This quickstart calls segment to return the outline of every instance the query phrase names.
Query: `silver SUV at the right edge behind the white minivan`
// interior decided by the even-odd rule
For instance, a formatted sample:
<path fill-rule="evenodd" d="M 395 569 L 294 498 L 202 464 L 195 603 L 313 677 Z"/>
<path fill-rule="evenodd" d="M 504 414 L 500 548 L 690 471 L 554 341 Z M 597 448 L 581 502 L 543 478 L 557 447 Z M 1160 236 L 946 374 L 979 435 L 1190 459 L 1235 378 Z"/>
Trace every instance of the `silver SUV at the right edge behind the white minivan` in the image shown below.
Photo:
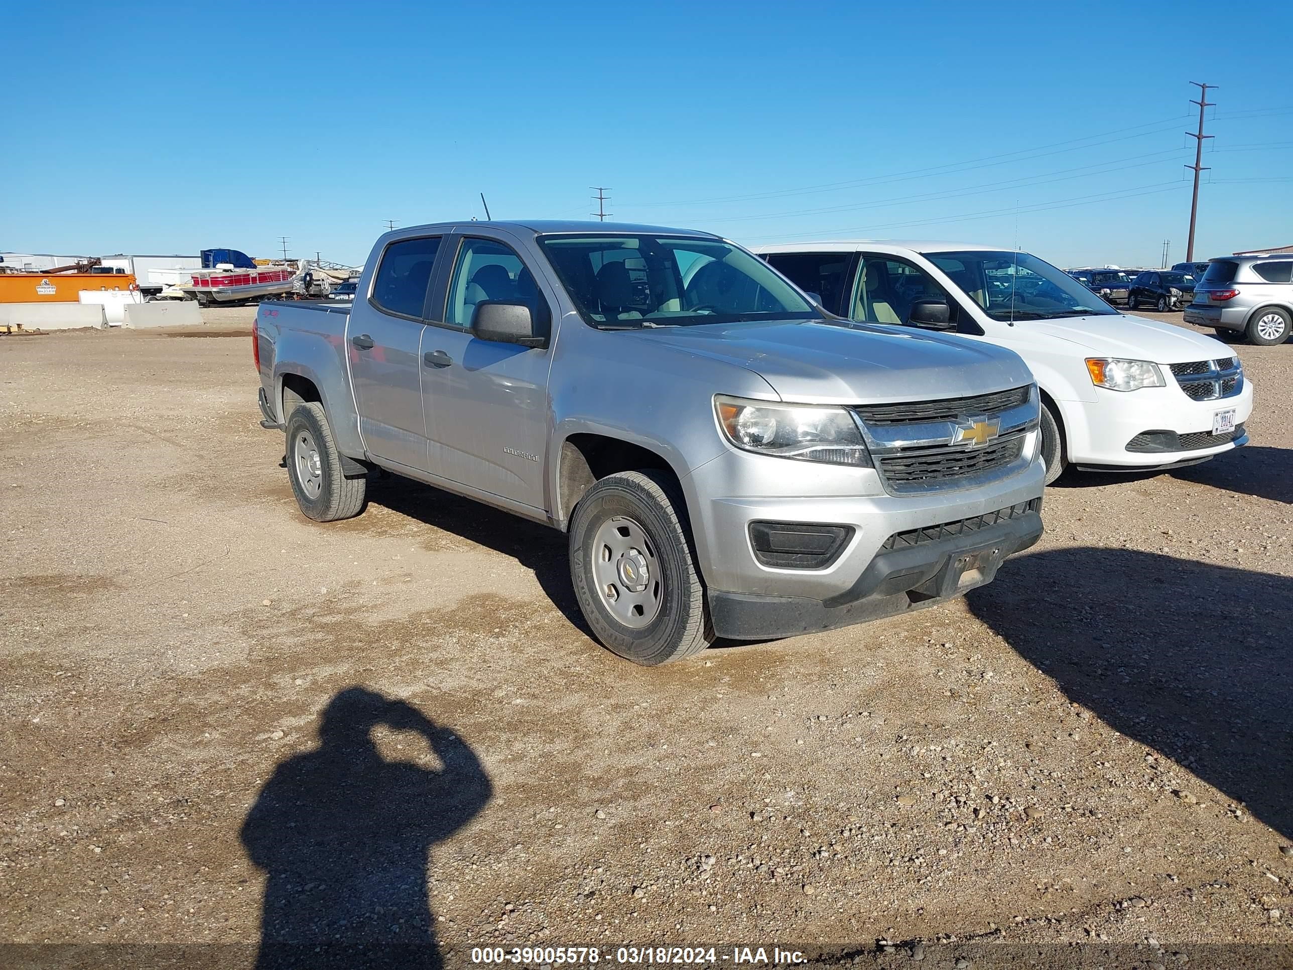
<path fill-rule="evenodd" d="M 1184 318 L 1222 336 L 1237 331 L 1259 347 L 1283 344 L 1293 330 L 1293 256 L 1212 260 Z"/>

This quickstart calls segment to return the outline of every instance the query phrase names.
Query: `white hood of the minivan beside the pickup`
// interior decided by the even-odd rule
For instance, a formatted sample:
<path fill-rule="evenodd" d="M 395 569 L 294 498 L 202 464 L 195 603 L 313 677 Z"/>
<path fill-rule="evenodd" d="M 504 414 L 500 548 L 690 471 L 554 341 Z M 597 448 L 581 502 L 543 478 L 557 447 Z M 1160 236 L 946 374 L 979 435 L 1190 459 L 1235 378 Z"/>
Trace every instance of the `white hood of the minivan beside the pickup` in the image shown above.
<path fill-rule="evenodd" d="M 1235 356 L 1221 340 L 1131 314 L 1021 319 L 1015 327 L 1027 334 L 1068 340 L 1100 357 L 1182 363 Z"/>

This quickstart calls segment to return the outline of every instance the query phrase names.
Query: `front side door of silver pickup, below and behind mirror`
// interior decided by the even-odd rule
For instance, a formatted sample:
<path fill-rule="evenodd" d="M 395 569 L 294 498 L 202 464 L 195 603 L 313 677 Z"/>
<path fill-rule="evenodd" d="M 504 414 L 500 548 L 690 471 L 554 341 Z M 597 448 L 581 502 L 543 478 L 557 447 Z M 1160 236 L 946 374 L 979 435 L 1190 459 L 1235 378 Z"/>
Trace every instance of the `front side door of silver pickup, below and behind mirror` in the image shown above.
<path fill-rule="evenodd" d="M 546 511 L 551 347 L 480 340 L 471 323 L 476 304 L 499 300 L 528 304 L 547 325 L 555 295 L 502 238 L 459 235 L 447 248 L 447 292 L 428 307 L 422 341 L 429 471 Z"/>

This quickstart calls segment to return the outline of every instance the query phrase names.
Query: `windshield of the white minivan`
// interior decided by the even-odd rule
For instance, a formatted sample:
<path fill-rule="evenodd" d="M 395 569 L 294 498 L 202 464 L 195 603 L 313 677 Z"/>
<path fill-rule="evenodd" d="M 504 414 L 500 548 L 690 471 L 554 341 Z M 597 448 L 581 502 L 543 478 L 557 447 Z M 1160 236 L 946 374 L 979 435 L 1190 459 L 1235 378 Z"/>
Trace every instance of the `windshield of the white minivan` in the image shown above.
<path fill-rule="evenodd" d="M 1080 282 L 1027 252 L 927 252 L 993 319 L 1104 317 L 1117 310 Z"/>

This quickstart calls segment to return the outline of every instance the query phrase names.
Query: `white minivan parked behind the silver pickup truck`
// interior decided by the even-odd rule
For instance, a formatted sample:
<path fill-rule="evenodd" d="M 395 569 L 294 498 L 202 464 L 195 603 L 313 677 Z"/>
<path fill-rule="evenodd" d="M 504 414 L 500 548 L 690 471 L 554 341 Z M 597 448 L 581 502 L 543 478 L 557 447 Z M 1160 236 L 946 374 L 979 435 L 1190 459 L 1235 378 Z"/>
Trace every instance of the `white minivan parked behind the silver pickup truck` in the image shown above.
<path fill-rule="evenodd" d="M 1253 389 L 1212 338 L 1116 310 L 1027 252 L 926 242 L 754 250 L 831 313 L 1006 347 L 1041 388 L 1046 481 L 1174 468 L 1248 444 Z"/>

